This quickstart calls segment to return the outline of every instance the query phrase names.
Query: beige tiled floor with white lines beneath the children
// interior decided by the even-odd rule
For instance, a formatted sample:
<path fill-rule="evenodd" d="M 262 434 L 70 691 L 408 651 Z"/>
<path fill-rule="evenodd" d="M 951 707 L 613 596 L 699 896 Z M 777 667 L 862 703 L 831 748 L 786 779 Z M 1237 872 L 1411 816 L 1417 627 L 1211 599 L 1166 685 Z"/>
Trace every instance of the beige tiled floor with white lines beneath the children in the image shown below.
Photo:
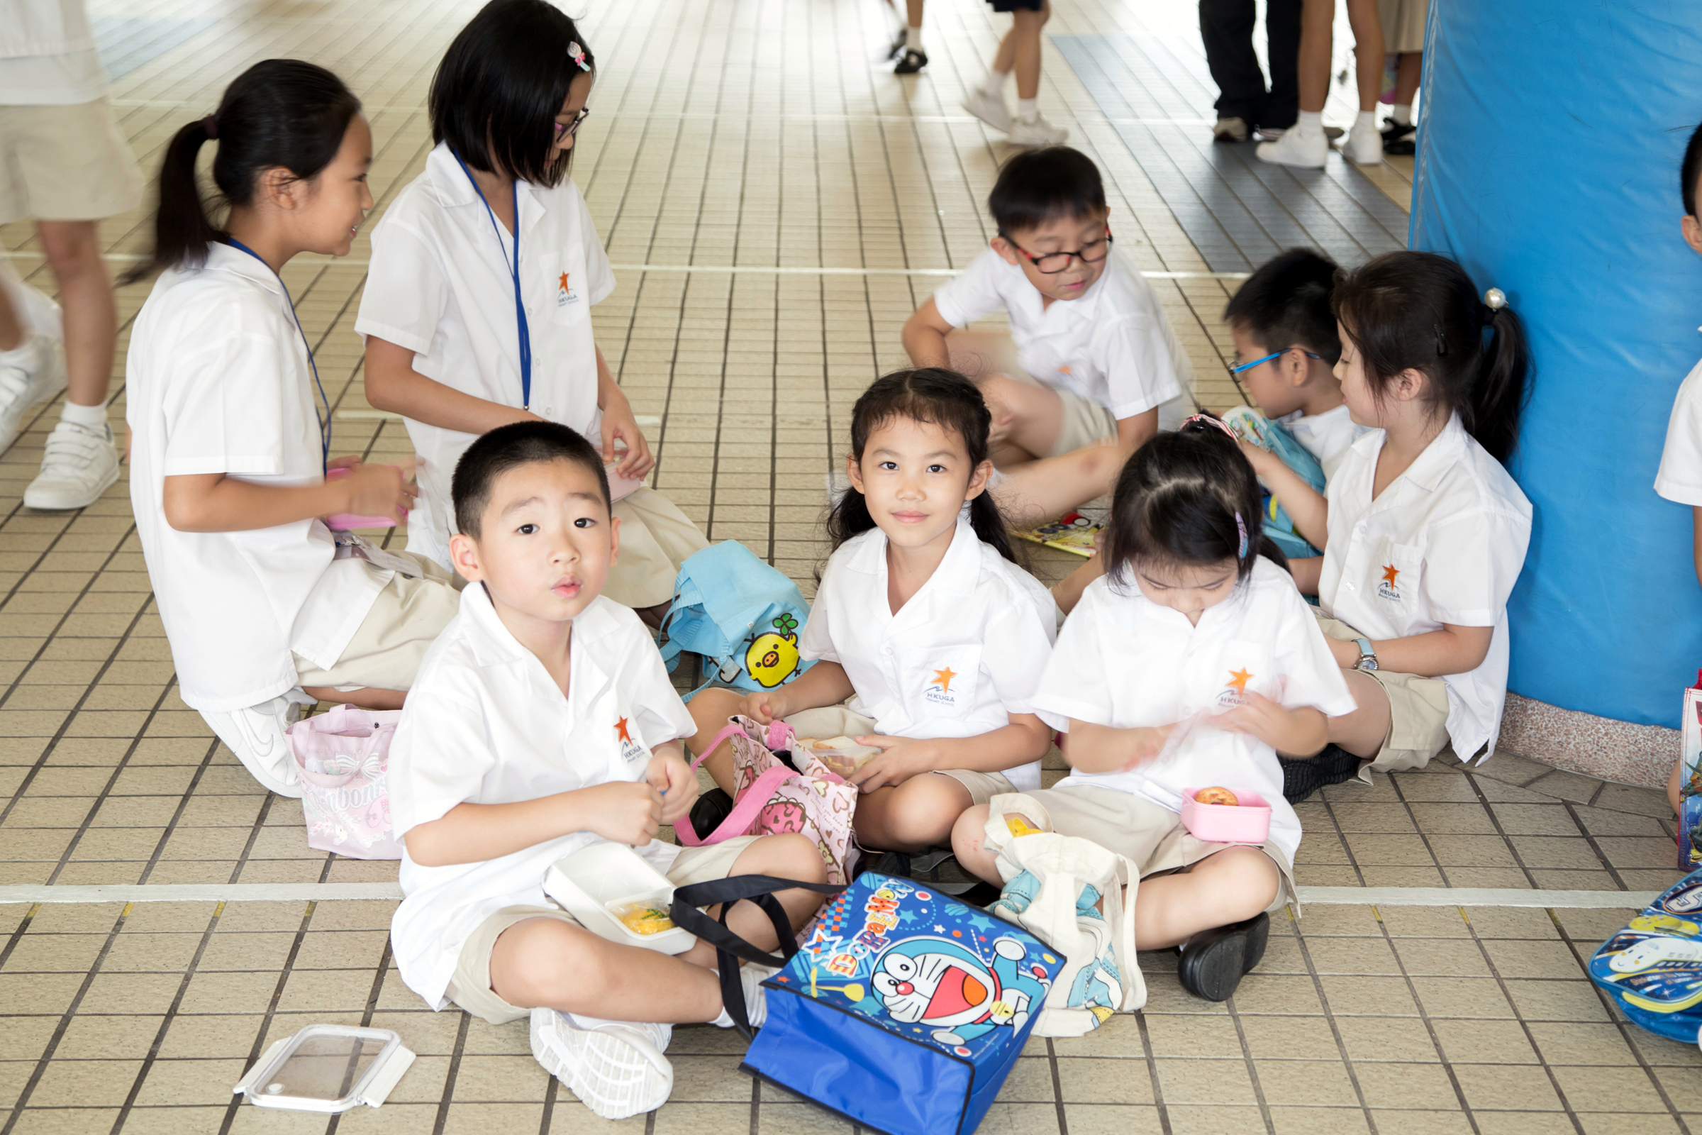
<path fill-rule="evenodd" d="M 366 100 L 380 208 L 420 168 L 424 88 L 473 7 L 92 3 L 146 167 L 243 66 L 303 56 Z M 902 362 L 904 317 L 989 237 L 980 202 L 1004 146 L 957 99 L 980 78 L 1002 17 L 979 0 L 931 0 L 933 65 L 900 82 L 877 58 L 875 0 L 584 7 L 601 77 L 577 177 L 621 281 L 597 310 L 599 344 L 650 422 L 657 485 L 711 538 L 742 539 L 808 587 L 822 473 L 844 446 L 851 400 Z M 1217 313 L 1244 264 L 1217 257 L 1285 243 L 1295 225 L 1319 240 L 1353 235 L 1360 250 L 1377 237 L 1372 221 L 1377 240 L 1399 240 L 1389 206 L 1404 209 L 1409 165 L 1365 175 L 1336 160 L 1319 175 L 1258 179 L 1256 208 L 1237 213 L 1225 202 L 1246 197 L 1253 167 L 1198 145 L 1210 106 L 1191 0 L 1055 7 L 1047 114 L 1105 168 L 1118 247 L 1168 274 L 1154 288 L 1193 356 L 1200 400 L 1229 405 Z M 1105 49 L 1117 37 L 1142 49 L 1113 68 Z M 1072 71 L 1065 39 L 1101 60 L 1089 78 Z M 1157 129 L 1173 133 L 1144 141 L 1130 131 L 1152 124 L 1108 114 L 1111 95 L 1142 116 L 1144 99 L 1162 107 L 1176 121 Z M 1338 92 L 1331 117 L 1343 109 Z M 1229 243 L 1202 237 L 1210 223 Z M 145 218 L 114 218 L 104 237 L 123 265 L 146 243 Z M 49 288 L 26 225 L 0 228 L 0 247 Z M 400 424 L 363 396 L 352 322 L 366 254 L 363 240 L 344 262 L 301 260 L 286 277 L 335 405 L 337 449 L 402 454 Z M 143 296 L 119 291 L 126 325 Z M 123 345 L 114 374 L 121 412 Z M 20 507 L 54 415 L 43 407 L 0 458 L 0 887 L 393 881 L 391 863 L 310 853 L 300 803 L 255 791 L 177 699 L 123 485 L 75 516 Z M 1043 575 L 1071 563 L 1037 553 Z M 1181 994 L 1166 973 L 1173 956 L 1145 955 L 1147 1009 L 1086 1040 L 1033 1041 L 984 1130 L 1540 1135 L 1688 1132 L 1702 1120 L 1702 1055 L 1625 1024 L 1581 977 L 1629 897 L 1603 909 L 1411 905 L 1431 902 L 1421 888 L 1665 887 L 1676 871 L 1658 793 L 1499 754 L 1481 769 L 1448 762 L 1331 788 L 1300 812 L 1302 887 L 1379 890 L 1282 921 L 1224 1006 Z M 599 1126 L 533 1064 L 524 1026 L 432 1014 L 400 984 L 391 900 L 225 893 L 245 897 L 0 902 L 0 1135 Z M 420 1060 L 380 1111 L 325 1121 L 235 1106 L 242 1069 L 308 1021 L 395 1028 Z M 683 1028 L 671 1055 L 674 1101 L 623 1126 L 842 1126 L 756 1089 L 727 1033 Z"/>

